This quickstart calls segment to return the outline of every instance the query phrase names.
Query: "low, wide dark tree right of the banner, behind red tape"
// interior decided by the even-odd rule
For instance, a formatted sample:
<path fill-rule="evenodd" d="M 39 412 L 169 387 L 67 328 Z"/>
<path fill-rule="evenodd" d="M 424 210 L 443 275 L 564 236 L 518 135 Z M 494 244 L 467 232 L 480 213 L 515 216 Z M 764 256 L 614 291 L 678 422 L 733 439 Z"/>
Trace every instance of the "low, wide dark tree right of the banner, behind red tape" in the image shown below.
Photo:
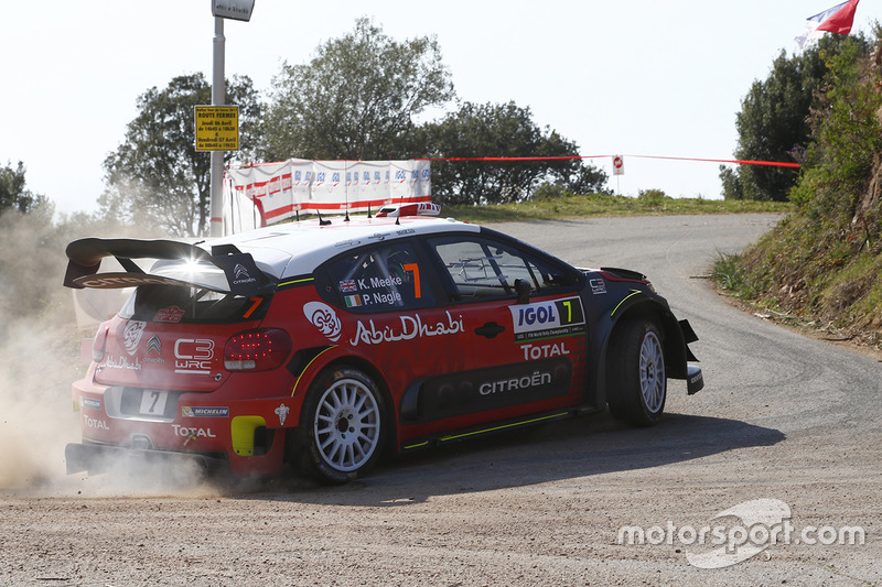
<path fill-rule="evenodd" d="M 515 102 L 475 105 L 422 129 L 432 157 L 566 157 L 578 146 L 557 131 L 540 129 L 529 108 Z M 449 204 L 502 204 L 533 195 L 540 182 L 574 193 L 599 191 L 606 174 L 579 159 L 557 161 L 439 161 L 433 163 L 432 192 Z"/>

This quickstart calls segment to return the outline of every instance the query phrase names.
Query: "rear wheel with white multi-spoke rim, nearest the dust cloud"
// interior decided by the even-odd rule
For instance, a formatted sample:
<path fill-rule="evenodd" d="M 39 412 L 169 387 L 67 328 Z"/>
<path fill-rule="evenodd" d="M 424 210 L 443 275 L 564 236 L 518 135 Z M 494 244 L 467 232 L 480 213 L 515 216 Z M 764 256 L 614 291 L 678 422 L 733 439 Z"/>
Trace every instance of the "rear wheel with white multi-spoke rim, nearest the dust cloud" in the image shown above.
<path fill-rule="evenodd" d="M 306 392 L 298 427 L 301 471 L 326 483 L 365 475 L 384 446 L 385 414 L 370 377 L 348 367 L 322 371 Z"/>

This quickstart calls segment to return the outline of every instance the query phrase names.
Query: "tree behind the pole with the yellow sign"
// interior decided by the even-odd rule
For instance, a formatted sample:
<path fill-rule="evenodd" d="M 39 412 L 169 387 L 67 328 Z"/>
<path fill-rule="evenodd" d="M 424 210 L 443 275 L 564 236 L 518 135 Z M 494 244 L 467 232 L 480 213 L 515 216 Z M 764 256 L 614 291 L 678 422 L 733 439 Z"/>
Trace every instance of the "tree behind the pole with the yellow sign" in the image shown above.
<path fill-rule="evenodd" d="M 226 102 L 239 107 L 238 153 L 254 156 L 262 113 L 251 80 L 234 76 Z M 193 107 L 211 104 L 212 88 L 202 74 L 173 78 L 138 98 L 139 113 L 126 140 L 104 163 L 107 189 L 98 199 L 103 214 L 161 229 L 172 236 L 204 235 L 211 199 L 211 154 L 196 151 Z"/>

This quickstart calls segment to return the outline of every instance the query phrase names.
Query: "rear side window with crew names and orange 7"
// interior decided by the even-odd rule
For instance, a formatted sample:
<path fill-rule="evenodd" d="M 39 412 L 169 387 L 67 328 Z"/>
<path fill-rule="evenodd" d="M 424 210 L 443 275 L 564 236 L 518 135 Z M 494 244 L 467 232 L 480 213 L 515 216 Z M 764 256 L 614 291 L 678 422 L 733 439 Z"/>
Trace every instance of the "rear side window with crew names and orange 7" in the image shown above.
<path fill-rule="evenodd" d="M 352 251 L 326 265 L 331 302 L 356 313 L 426 307 L 434 303 L 410 242 Z"/>

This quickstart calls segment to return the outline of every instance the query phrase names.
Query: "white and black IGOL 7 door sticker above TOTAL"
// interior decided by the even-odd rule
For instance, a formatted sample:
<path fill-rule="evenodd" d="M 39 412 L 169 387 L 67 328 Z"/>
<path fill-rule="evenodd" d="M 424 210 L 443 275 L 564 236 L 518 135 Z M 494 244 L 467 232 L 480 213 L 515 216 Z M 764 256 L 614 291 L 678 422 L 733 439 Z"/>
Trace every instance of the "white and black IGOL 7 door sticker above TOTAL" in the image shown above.
<path fill-rule="evenodd" d="M 514 305 L 508 309 L 517 341 L 569 336 L 585 329 L 585 314 L 579 296 Z"/>

